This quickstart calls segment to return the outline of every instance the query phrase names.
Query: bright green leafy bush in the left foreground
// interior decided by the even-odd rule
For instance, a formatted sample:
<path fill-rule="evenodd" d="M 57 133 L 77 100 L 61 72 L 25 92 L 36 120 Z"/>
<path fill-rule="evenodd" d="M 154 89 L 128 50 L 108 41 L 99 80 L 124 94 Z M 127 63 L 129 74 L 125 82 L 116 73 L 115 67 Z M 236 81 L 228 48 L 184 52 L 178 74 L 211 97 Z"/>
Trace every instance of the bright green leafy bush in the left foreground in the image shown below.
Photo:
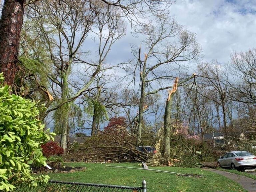
<path fill-rule="evenodd" d="M 48 181 L 48 176 L 32 177 L 30 164 L 45 165 L 41 144 L 53 133 L 37 119 L 37 103 L 10 94 L 3 82 L 0 73 L 0 191 L 12 191 L 24 182 L 36 186 Z"/>

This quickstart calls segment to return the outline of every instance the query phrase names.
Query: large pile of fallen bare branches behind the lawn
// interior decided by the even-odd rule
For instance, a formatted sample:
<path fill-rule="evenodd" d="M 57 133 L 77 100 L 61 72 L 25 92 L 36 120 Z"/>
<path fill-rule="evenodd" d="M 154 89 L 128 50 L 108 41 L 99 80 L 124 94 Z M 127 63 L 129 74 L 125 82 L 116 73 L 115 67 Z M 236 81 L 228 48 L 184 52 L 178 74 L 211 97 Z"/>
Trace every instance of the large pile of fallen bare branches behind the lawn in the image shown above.
<path fill-rule="evenodd" d="M 148 154 L 136 150 L 136 138 L 127 131 L 100 132 L 84 144 L 73 143 L 65 156 L 69 161 L 146 161 Z"/>

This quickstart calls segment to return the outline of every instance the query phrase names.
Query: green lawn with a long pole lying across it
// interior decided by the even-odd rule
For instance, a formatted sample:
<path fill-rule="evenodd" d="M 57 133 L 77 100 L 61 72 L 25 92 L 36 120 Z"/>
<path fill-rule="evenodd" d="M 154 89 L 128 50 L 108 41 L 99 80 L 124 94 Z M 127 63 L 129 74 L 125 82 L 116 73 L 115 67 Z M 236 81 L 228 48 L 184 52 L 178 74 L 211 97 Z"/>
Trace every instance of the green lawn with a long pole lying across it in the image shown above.
<path fill-rule="evenodd" d="M 54 173 L 49 174 L 52 180 L 71 181 L 81 183 L 99 183 L 125 186 L 141 186 L 146 180 L 149 192 L 246 192 L 238 183 L 227 179 L 216 173 L 201 170 L 198 168 L 179 167 L 151 167 L 183 174 L 198 174 L 201 177 L 184 177 L 170 173 L 159 173 L 153 171 L 112 168 L 106 165 L 138 167 L 138 163 L 66 163 L 66 166 L 82 167 L 85 171 L 74 173 Z"/>

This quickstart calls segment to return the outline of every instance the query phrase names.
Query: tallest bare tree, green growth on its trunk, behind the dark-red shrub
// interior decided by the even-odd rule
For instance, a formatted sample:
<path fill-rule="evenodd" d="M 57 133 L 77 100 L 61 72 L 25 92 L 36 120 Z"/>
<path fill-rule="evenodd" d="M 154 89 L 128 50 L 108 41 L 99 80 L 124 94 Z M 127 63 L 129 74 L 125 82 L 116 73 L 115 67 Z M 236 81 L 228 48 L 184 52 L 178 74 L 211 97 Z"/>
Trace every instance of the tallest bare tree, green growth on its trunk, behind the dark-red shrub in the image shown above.
<path fill-rule="evenodd" d="M 61 146 L 66 149 L 69 102 L 88 91 L 95 76 L 103 70 L 102 66 L 111 46 L 124 35 L 125 27 L 117 8 L 106 6 L 101 1 L 93 4 L 73 0 L 61 5 L 56 1 L 48 1 L 35 9 L 36 13 L 43 16 L 38 26 L 43 31 L 44 45 L 52 62 L 48 78 L 52 82 L 55 102 L 45 115 L 57 109 L 56 128 L 61 130 Z M 56 31 L 56 36 L 51 36 L 47 30 Z M 85 39 L 91 33 L 99 42 L 96 62 L 86 60 L 86 52 L 82 49 Z M 69 86 L 74 65 L 82 66 L 86 74 L 84 84 L 77 91 Z"/>

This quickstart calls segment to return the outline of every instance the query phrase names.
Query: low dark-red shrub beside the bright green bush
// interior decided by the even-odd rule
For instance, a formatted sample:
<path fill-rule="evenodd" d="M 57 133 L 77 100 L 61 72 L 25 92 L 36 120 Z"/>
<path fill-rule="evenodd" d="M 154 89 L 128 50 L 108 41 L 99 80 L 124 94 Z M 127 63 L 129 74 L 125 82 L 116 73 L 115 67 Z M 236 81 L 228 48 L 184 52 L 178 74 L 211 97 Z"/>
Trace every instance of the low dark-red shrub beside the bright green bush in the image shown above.
<path fill-rule="evenodd" d="M 43 155 L 49 157 L 51 155 L 61 155 L 63 154 L 63 148 L 59 147 L 57 143 L 50 141 L 41 146 L 43 149 Z"/>

